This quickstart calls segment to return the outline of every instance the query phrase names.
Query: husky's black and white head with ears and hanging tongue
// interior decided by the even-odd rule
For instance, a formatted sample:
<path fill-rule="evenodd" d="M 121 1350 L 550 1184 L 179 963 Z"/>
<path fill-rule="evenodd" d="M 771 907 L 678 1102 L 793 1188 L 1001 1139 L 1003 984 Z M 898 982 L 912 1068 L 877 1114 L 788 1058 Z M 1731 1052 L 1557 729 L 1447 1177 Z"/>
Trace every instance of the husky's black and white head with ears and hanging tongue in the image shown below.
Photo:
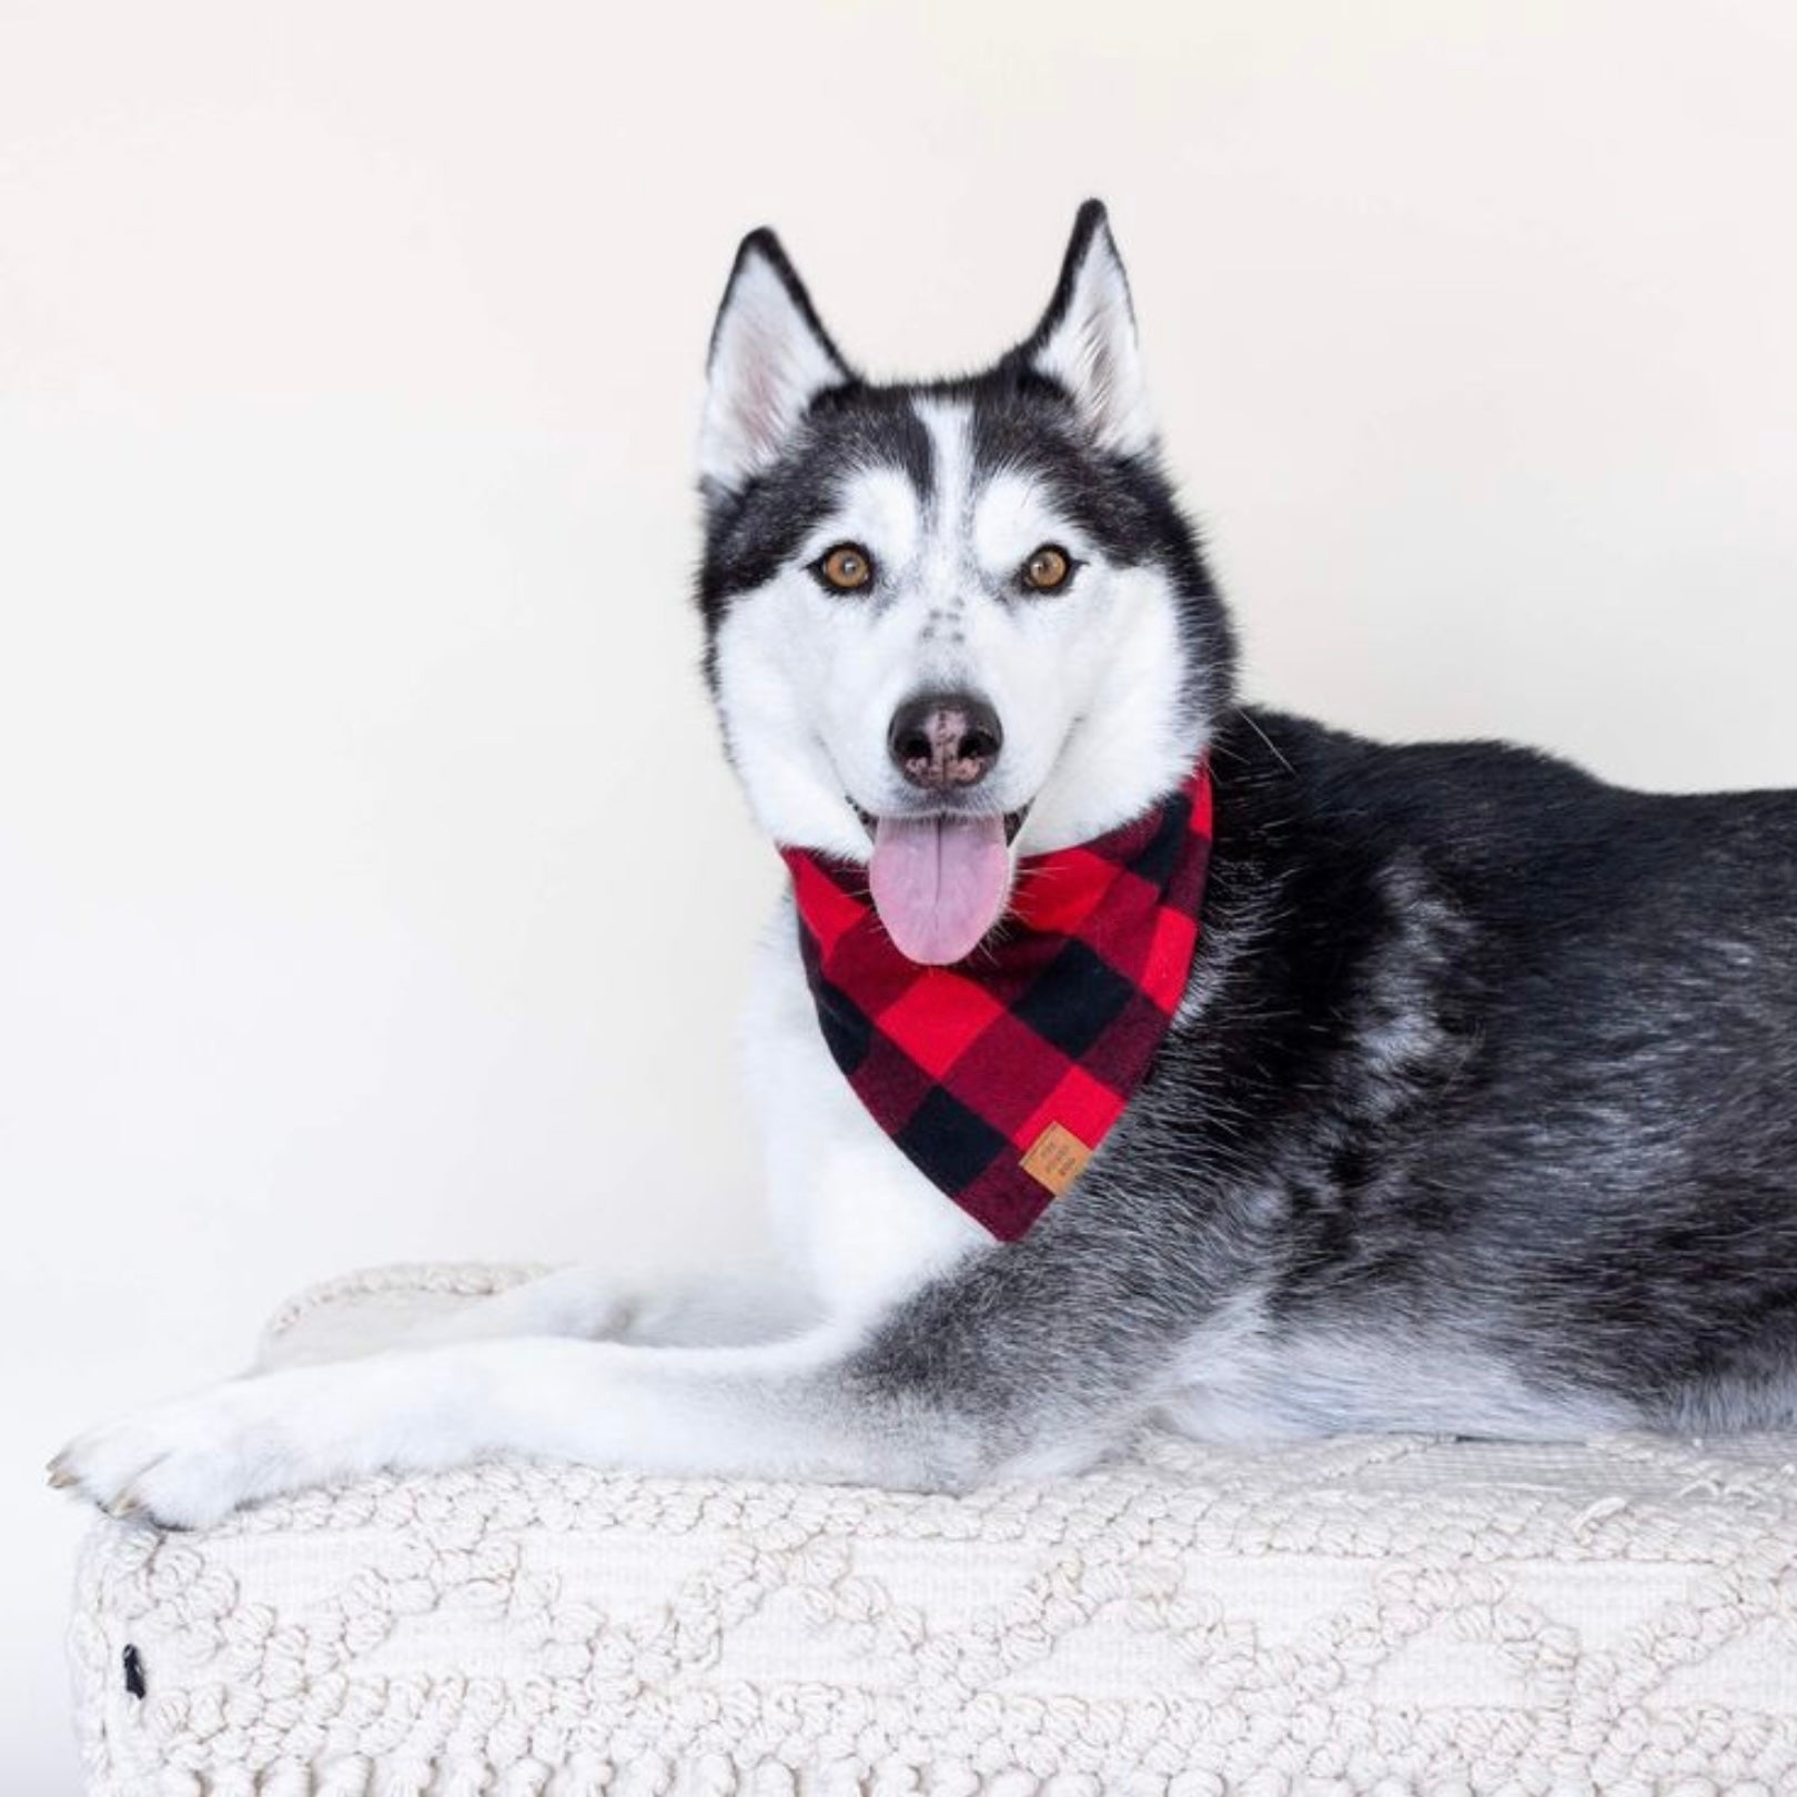
<path fill-rule="evenodd" d="M 755 232 L 699 460 L 706 668 L 749 803 L 780 843 L 870 861 L 913 960 L 965 956 L 1019 854 L 1177 787 L 1229 703 L 1096 201 L 1035 331 L 956 381 L 861 379 Z"/>

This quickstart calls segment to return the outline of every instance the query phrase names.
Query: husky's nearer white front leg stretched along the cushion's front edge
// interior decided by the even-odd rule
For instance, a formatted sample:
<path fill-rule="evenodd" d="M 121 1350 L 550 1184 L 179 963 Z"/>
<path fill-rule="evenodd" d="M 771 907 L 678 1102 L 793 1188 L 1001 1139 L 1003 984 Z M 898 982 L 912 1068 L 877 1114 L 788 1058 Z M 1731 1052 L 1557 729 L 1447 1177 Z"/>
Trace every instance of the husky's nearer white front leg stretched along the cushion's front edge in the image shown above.
<path fill-rule="evenodd" d="M 199 1527 L 300 1486 L 491 1454 L 900 1486 L 970 1477 L 970 1436 L 857 1387 L 848 1346 L 841 1330 L 717 1350 L 543 1337 L 293 1368 L 84 1436 L 52 1481 L 115 1515 Z"/>

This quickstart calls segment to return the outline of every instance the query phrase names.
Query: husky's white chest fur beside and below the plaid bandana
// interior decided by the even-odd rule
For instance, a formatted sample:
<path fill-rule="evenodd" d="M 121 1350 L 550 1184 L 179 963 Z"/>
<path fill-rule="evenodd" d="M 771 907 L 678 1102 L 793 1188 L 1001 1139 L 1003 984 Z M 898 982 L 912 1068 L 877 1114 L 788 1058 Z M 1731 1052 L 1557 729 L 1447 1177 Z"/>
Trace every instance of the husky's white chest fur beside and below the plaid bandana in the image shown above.
<path fill-rule="evenodd" d="M 775 1229 L 828 1310 L 881 1310 L 992 1245 L 893 1146 L 830 1058 L 785 900 L 757 956 L 744 1046 Z"/>

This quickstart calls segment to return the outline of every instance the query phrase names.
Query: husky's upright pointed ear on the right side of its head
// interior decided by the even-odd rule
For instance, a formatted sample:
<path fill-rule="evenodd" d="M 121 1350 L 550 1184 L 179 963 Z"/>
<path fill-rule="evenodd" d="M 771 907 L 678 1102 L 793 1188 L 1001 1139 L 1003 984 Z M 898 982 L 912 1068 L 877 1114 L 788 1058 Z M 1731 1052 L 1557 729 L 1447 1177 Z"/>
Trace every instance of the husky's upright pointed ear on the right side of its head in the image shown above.
<path fill-rule="evenodd" d="M 1154 449 L 1129 277 L 1096 199 L 1087 199 L 1073 221 L 1055 297 L 1022 356 L 1067 390 L 1102 449 L 1112 455 Z"/>

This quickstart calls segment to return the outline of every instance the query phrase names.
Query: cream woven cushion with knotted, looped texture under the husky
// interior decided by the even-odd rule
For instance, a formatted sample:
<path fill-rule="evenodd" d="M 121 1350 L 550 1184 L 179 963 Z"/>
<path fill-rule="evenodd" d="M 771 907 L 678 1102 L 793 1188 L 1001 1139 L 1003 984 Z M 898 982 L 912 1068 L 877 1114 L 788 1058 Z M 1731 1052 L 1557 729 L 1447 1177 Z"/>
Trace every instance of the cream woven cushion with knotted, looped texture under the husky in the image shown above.
<path fill-rule="evenodd" d="M 363 1274 L 271 1342 L 512 1276 Z M 1772 1797 L 1792 1457 L 1154 1436 L 965 1499 L 507 1461 L 205 1535 L 102 1522 L 72 1635 L 90 1790 Z"/>

